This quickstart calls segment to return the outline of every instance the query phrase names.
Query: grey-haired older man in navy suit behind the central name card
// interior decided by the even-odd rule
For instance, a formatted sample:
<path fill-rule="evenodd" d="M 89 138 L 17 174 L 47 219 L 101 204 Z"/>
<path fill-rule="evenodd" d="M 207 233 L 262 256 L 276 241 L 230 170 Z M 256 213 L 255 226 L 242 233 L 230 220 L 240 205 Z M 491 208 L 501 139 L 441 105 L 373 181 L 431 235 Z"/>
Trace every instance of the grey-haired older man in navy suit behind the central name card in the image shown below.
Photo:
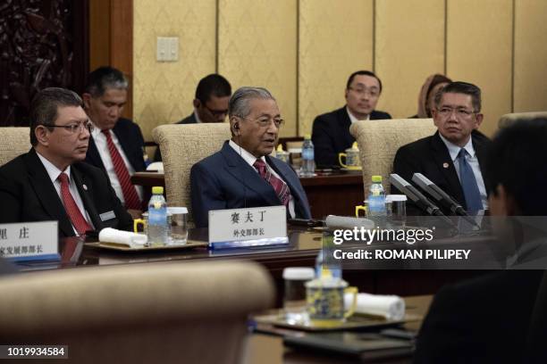
<path fill-rule="evenodd" d="M 310 219 L 307 196 L 289 164 L 271 157 L 283 120 L 262 87 L 241 87 L 228 105 L 231 140 L 190 170 L 196 227 L 211 210 L 285 205 L 290 218 Z"/>

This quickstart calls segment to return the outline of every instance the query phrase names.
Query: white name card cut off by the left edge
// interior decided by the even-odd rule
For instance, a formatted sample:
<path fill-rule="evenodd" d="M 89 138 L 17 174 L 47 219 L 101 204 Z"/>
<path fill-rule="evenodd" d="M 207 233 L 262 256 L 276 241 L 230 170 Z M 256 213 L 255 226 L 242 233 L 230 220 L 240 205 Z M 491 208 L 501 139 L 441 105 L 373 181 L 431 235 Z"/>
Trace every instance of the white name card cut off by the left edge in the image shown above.
<path fill-rule="evenodd" d="M 0 224 L 0 257 L 16 261 L 58 259 L 57 221 Z"/>

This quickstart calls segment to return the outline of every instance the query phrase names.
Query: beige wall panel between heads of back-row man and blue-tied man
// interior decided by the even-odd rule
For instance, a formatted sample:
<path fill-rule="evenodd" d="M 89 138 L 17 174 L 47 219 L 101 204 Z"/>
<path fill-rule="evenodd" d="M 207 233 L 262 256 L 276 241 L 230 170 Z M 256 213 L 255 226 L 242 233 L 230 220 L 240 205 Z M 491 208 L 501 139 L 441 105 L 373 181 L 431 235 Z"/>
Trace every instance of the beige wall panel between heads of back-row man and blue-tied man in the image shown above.
<path fill-rule="evenodd" d="M 417 113 L 425 79 L 444 73 L 444 1 L 376 1 L 375 73 L 383 94 L 377 108 L 393 118 Z"/>

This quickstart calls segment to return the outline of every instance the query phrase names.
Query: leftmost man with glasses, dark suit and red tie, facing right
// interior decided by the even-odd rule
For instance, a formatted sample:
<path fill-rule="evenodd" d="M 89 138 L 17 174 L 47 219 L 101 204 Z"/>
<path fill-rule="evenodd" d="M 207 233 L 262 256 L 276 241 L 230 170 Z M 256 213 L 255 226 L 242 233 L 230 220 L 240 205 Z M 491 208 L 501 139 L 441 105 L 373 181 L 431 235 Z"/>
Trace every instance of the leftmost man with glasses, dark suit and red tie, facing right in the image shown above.
<path fill-rule="evenodd" d="M 57 220 L 59 236 L 133 221 L 105 172 L 83 163 L 93 124 L 76 93 L 46 88 L 30 105 L 29 153 L 0 168 L 0 223 Z"/>

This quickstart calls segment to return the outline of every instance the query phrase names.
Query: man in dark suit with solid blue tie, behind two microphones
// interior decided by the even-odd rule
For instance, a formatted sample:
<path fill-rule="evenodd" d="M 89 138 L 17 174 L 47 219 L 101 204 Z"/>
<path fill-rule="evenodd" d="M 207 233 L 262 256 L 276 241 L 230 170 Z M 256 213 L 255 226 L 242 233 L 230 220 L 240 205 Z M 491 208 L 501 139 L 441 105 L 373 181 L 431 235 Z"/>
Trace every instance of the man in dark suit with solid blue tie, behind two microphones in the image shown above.
<path fill-rule="evenodd" d="M 437 92 L 432 112 L 437 132 L 401 146 L 393 173 L 408 181 L 414 173 L 422 173 L 468 212 L 487 210 L 484 160 L 490 140 L 477 130 L 483 122 L 480 88 L 452 82 Z M 391 186 L 391 193 L 395 190 Z M 417 210 L 411 207 L 409 213 Z"/>

